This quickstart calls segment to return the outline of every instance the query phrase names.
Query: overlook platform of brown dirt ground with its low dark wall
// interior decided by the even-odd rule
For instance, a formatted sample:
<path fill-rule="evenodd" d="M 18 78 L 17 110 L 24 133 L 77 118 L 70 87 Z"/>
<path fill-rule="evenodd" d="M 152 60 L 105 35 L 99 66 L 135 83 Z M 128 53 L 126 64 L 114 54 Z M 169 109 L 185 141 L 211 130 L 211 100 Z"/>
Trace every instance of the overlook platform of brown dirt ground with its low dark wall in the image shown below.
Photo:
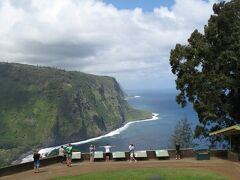
<path fill-rule="evenodd" d="M 147 158 L 139 159 L 137 163 L 129 163 L 129 152 L 125 152 L 126 158 L 114 160 L 110 157 L 110 161 L 104 158 L 89 162 L 89 153 L 82 153 L 81 159 L 73 161 L 72 167 L 58 162 L 58 157 L 51 157 L 41 160 L 40 173 L 33 172 L 33 162 L 13 165 L 0 168 L 0 179 L 51 179 L 60 176 L 79 175 L 89 172 L 103 172 L 117 169 L 129 168 L 186 168 L 186 169 L 202 169 L 216 172 L 228 179 L 237 180 L 240 174 L 239 161 L 233 162 L 228 160 L 228 152 L 226 150 L 211 150 L 210 160 L 198 161 L 194 158 L 193 149 L 182 149 L 182 159 L 175 159 L 175 150 L 167 150 L 169 158 L 157 158 L 155 151 L 147 151 Z"/>

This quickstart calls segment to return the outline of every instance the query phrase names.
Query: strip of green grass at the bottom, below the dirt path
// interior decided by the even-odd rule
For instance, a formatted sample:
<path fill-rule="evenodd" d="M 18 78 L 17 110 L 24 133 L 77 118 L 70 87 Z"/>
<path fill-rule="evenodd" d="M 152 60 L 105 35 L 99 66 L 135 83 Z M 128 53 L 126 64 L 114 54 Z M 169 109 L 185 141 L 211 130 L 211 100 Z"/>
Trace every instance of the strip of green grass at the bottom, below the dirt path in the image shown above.
<path fill-rule="evenodd" d="M 54 178 L 53 180 L 78 180 L 78 179 L 103 179 L 103 180 L 226 180 L 219 174 L 199 169 L 170 169 L 170 168 L 151 168 L 151 169 L 127 169 L 114 170 L 107 172 L 86 173 L 78 176 L 67 176 Z"/>

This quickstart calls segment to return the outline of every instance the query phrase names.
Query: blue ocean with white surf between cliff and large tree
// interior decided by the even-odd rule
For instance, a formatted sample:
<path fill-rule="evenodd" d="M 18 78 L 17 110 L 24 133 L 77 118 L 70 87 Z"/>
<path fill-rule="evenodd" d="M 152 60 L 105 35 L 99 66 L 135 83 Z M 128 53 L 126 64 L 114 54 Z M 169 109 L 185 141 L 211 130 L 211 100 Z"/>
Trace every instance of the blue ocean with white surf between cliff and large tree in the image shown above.
<path fill-rule="evenodd" d="M 80 142 L 71 142 L 78 146 L 81 152 L 88 152 L 90 144 L 99 147 L 106 144 L 114 145 L 111 151 L 128 151 L 129 144 L 134 144 L 136 150 L 156 150 L 172 148 L 171 137 L 176 123 L 187 118 L 192 129 L 198 124 L 198 117 L 192 105 L 181 108 L 175 101 L 175 90 L 125 90 L 129 98 L 128 103 L 134 108 L 143 109 L 154 113 L 152 119 L 131 122 L 100 137 Z M 55 148 L 42 149 L 46 153 Z M 26 162 L 25 158 L 23 162 Z"/>

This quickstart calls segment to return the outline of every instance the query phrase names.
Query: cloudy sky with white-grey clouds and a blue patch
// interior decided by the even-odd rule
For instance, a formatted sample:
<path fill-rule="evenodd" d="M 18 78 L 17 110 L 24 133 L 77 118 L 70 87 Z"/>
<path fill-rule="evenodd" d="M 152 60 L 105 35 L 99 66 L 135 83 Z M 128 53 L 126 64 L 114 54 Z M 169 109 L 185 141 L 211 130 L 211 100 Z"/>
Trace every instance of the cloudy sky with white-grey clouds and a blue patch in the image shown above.
<path fill-rule="evenodd" d="M 170 50 L 203 31 L 214 0 L 0 0 L 0 61 L 175 88 Z"/>

